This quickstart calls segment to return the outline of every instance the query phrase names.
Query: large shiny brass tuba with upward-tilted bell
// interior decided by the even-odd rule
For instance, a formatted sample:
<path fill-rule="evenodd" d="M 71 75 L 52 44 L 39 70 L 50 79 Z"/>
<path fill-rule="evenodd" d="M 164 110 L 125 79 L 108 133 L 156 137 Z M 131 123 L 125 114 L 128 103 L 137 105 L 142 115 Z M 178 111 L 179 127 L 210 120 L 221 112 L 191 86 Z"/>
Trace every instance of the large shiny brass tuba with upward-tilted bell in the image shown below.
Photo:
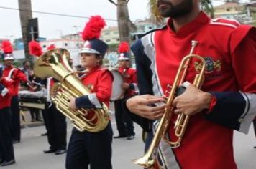
<path fill-rule="evenodd" d="M 56 108 L 71 120 L 74 127 L 79 131 L 99 132 L 104 130 L 109 122 L 108 108 L 101 103 L 101 109 L 79 109 L 69 108 L 70 97 L 81 97 L 89 95 L 90 90 L 86 88 L 81 80 L 73 72 L 68 64 L 70 52 L 66 49 L 52 49 L 42 54 L 34 66 L 36 77 L 45 79 L 53 77 L 59 83 L 52 87 L 54 95 L 51 95 L 52 102 Z"/>

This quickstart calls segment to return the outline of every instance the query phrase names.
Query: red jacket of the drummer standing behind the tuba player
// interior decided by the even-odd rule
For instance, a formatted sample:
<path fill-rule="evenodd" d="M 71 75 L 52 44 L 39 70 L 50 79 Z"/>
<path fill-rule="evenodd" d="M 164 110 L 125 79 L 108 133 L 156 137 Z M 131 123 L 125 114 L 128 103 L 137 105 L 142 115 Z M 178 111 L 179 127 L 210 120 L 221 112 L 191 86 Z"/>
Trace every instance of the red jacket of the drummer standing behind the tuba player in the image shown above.
<path fill-rule="evenodd" d="M 137 89 L 136 69 L 119 67 L 117 70 L 122 74 L 124 82 L 129 84 L 129 88 L 124 92 L 124 97 L 135 95 Z"/>

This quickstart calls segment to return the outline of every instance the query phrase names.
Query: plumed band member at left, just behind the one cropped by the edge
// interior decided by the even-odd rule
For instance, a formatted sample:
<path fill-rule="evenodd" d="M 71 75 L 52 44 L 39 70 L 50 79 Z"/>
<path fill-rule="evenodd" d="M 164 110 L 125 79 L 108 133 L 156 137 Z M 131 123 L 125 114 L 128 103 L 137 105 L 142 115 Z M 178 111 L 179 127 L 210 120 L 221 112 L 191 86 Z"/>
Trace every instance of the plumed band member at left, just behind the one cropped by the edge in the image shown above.
<path fill-rule="evenodd" d="M 14 57 L 12 54 L 12 44 L 9 41 L 2 42 L 4 49 L 4 72 L 3 77 L 7 77 L 14 81 L 14 95 L 12 96 L 11 112 L 12 112 L 12 142 L 19 143 L 21 139 L 20 117 L 19 117 L 19 84 L 27 83 L 26 75 L 13 66 Z"/>

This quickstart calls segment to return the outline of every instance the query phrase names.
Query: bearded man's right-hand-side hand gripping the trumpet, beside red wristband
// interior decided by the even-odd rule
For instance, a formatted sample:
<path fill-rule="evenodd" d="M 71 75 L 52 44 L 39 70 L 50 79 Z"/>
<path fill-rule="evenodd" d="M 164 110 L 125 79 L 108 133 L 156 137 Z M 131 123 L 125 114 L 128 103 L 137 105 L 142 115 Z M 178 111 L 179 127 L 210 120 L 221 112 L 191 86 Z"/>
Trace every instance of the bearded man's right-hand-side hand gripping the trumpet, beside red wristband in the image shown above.
<path fill-rule="evenodd" d="M 203 92 L 190 84 L 182 95 L 175 97 L 173 107 L 175 114 L 195 115 L 204 109 L 208 109 L 212 95 Z"/>

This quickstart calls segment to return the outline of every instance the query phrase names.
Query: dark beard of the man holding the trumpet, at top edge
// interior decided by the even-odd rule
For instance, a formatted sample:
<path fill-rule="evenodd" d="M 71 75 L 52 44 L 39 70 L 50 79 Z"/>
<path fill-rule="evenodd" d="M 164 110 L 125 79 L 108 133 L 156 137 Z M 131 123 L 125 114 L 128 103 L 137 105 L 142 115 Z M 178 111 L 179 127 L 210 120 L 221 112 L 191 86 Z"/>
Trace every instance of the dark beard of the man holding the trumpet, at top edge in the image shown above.
<path fill-rule="evenodd" d="M 160 3 L 163 3 L 166 5 L 166 8 L 160 9 Z M 193 1 L 192 0 L 183 0 L 180 2 L 180 4 L 173 6 L 170 1 L 157 1 L 157 7 L 160 11 L 160 14 L 163 17 L 171 17 L 171 18 L 179 18 L 181 16 L 186 16 L 189 14 L 193 9 Z"/>

